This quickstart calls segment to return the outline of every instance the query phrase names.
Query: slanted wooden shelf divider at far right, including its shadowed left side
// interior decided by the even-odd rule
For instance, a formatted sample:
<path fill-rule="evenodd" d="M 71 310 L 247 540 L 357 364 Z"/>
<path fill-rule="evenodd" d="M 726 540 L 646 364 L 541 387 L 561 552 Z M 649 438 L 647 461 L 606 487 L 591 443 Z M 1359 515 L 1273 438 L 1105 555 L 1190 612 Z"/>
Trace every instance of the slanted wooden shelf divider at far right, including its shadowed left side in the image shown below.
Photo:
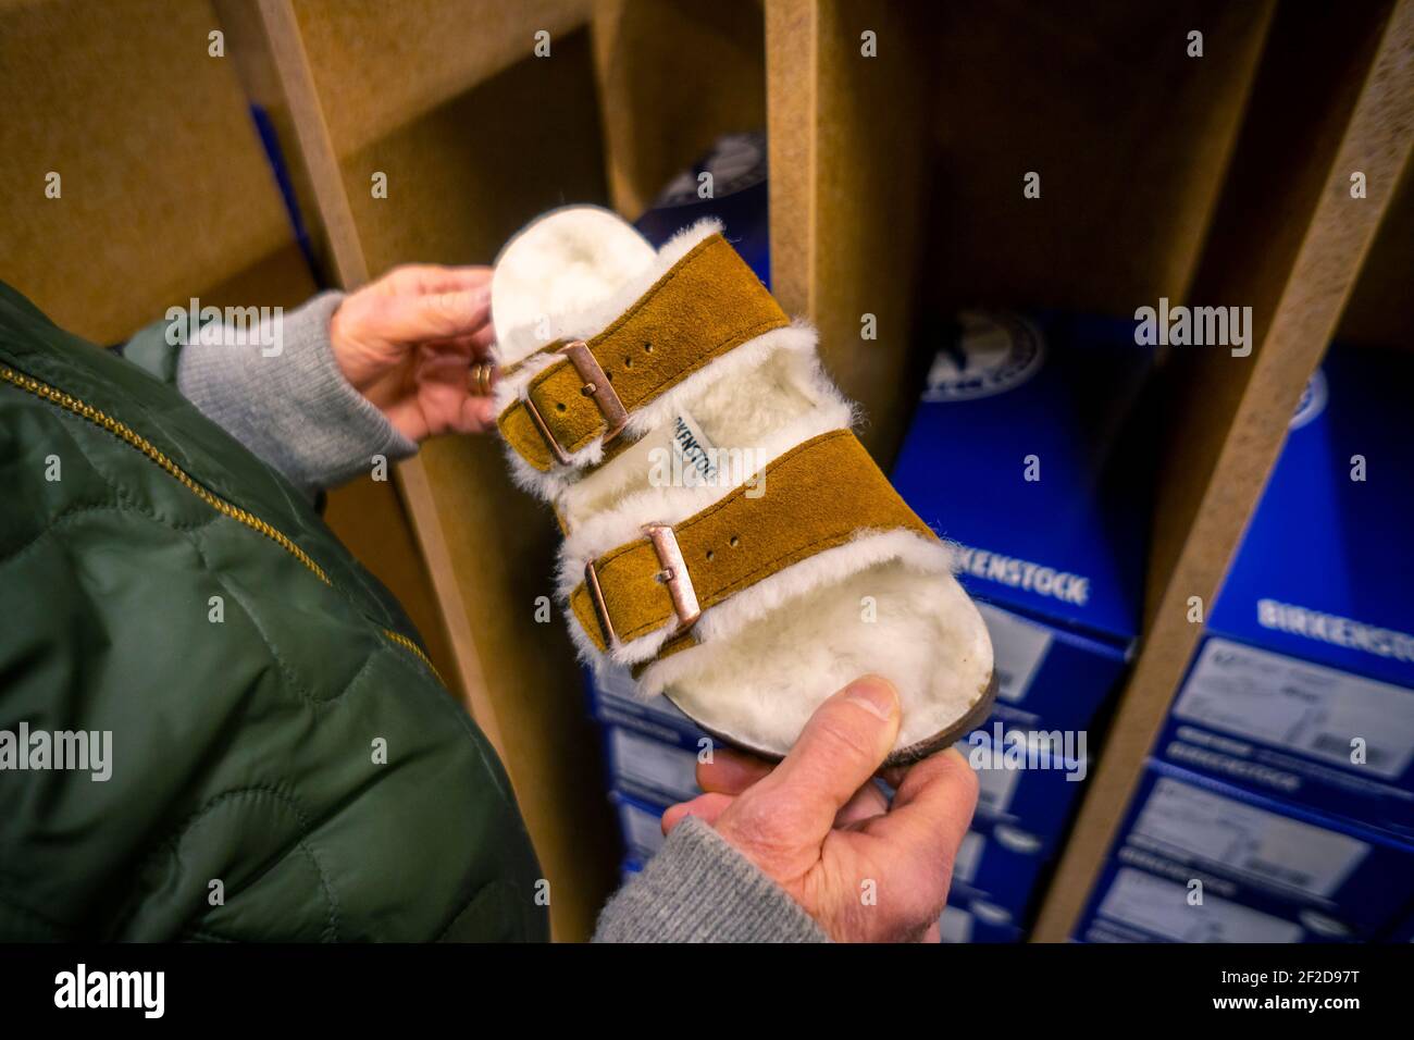
<path fill-rule="evenodd" d="M 1294 108 L 1295 98 L 1307 103 Z M 1174 405 L 1151 606 L 1036 941 L 1065 941 L 1076 924 L 1196 647 L 1189 597 L 1210 607 L 1217 596 L 1301 391 L 1390 214 L 1411 143 L 1414 3 L 1282 6 L 1192 290 L 1202 303 L 1250 303 L 1256 348 L 1241 359 L 1188 354 L 1165 374 Z M 1353 171 L 1366 174 L 1367 198 L 1352 198 Z"/>

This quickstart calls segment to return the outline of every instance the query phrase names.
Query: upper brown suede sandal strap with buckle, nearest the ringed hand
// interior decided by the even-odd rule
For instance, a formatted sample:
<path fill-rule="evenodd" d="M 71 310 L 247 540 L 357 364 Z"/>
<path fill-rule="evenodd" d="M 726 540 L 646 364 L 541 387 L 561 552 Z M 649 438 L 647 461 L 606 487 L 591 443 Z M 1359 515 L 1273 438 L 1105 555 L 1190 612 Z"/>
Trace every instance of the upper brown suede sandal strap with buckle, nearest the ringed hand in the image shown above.
<path fill-rule="evenodd" d="M 713 235 L 587 347 L 632 415 L 727 351 L 788 324 L 737 250 Z M 536 416 L 564 454 L 584 449 L 608 427 L 601 402 L 568 359 L 539 372 L 525 398 L 530 406 L 518 399 L 496 424 L 510 447 L 540 471 L 556 464 L 556 453 Z"/>

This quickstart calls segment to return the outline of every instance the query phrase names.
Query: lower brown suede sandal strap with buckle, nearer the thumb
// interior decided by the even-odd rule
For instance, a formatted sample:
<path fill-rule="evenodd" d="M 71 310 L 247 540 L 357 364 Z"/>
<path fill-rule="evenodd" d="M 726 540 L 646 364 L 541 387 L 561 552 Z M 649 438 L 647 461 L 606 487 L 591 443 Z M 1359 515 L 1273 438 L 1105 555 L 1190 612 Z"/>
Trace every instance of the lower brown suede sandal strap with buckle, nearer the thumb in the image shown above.
<path fill-rule="evenodd" d="M 902 528 L 936 538 L 848 430 L 790 449 L 765 468 L 765 480 L 755 487 L 759 495 L 752 487 L 738 487 L 673 528 L 701 610 L 861 531 Z M 663 628 L 677 616 L 648 538 L 621 545 L 590 566 L 619 642 Z M 607 649 L 609 638 L 588 573 L 570 594 L 570 608 L 594 645 Z M 674 635 L 662 655 L 682 649 L 690 638 L 690 632 Z"/>

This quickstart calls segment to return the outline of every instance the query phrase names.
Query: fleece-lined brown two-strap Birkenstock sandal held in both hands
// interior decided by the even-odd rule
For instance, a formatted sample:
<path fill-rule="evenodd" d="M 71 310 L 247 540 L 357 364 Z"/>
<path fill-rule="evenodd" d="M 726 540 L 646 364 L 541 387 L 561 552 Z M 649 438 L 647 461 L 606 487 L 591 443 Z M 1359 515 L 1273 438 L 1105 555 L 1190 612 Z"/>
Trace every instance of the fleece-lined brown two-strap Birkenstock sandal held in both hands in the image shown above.
<path fill-rule="evenodd" d="M 557 209 L 505 246 L 491 307 L 498 424 L 564 531 L 585 658 L 771 758 L 867 672 L 902 702 L 889 764 L 986 719 L 991 641 L 952 553 L 717 224 L 655 252 L 608 211 Z"/>

